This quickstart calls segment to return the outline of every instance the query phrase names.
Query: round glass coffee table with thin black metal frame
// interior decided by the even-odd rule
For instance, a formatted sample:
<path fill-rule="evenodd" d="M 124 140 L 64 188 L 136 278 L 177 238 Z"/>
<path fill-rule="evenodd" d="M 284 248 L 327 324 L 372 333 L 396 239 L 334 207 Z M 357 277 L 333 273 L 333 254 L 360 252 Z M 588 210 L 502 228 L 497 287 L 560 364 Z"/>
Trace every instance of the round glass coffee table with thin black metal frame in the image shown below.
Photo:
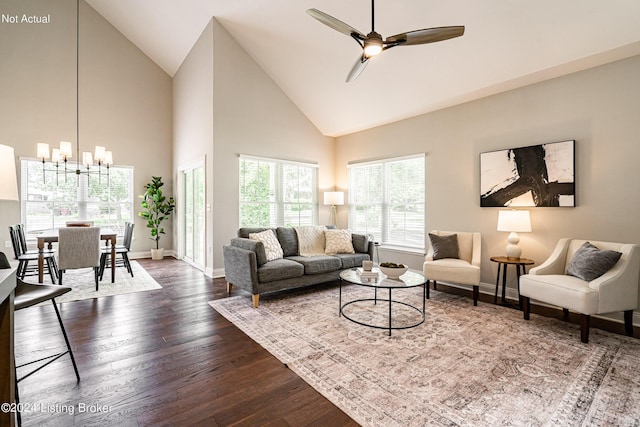
<path fill-rule="evenodd" d="M 339 316 L 344 316 L 346 319 L 357 323 L 359 325 L 363 325 L 363 326 L 368 326 L 370 328 L 377 328 L 377 329 L 387 329 L 389 331 L 389 336 L 391 336 L 391 331 L 393 329 L 409 329 L 409 328 L 415 328 L 418 325 L 421 325 L 422 323 L 424 323 L 424 318 L 425 318 L 425 300 L 427 299 L 427 279 L 420 273 L 416 273 L 413 271 L 407 271 L 406 273 L 404 273 L 402 276 L 400 276 L 400 278 L 398 279 L 389 279 L 387 278 L 386 275 L 384 275 L 383 273 L 381 273 L 377 268 L 373 269 L 374 272 L 378 272 L 378 278 L 376 281 L 368 281 L 365 278 L 361 278 L 360 274 L 358 273 L 358 269 L 356 268 L 352 268 L 349 270 L 344 270 L 340 273 L 340 296 L 339 296 L 339 300 L 338 300 L 338 306 L 339 306 L 339 311 L 338 311 L 338 315 Z M 361 298 L 361 299 L 356 299 L 353 301 L 348 301 L 344 304 L 342 304 L 342 282 L 347 282 L 347 283 L 351 283 L 354 285 L 359 285 L 359 286 L 365 286 L 368 288 L 373 288 L 374 289 L 374 297 L 373 298 Z M 397 301 L 394 300 L 392 298 L 392 291 L 396 290 L 396 289 L 408 289 L 408 288 L 415 288 L 418 286 L 422 286 L 422 309 L 420 309 L 419 307 L 416 307 L 415 305 L 411 305 L 409 303 L 406 303 L 404 301 Z M 381 302 L 383 301 L 387 301 L 389 304 L 389 324 L 388 325 L 374 325 L 371 323 L 367 323 L 364 321 L 360 321 L 357 319 L 354 319 L 350 316 L 348 316 L 347 314 L 344 313 L 344 308 L 351 305 L 351 304 L 356 304 L 359 302 L 366 302 L 366 301 L 372 301 L 374 304 L 378 303 L 378 289 L 388 289 L 389 290 L 389 298 L 388 299 L 380 299 Z M 419 320 L 416 321 L 415 323 L 412 323 L 410 325 L 394 325 L 393 324 L 393 320 L 392 320 L 392 307 L 394 304 L 398 304 L 398 305 L 402 305 L 405 307 L 409 307 L 409 309 L 416 311 L 420 316 L 419 316 Z"/>

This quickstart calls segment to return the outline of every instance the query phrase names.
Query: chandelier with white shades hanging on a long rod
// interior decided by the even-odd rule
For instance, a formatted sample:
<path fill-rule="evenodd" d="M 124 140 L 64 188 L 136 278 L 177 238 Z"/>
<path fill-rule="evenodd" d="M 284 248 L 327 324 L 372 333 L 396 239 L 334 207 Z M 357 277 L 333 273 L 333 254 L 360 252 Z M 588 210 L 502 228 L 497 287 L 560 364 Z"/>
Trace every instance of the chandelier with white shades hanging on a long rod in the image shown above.
<path fill-rule="evenodd" d="M 49 144 L 37 144 L 37 157 L 42 161 L 43 179 L 44 173 L 55 171 L 56 183 L 58 176 L 64 174 L 65 180 L 67 174 L 75 174 L 80 179 L 80 175 L 97 174 L 98 180 L 102 177 L 102 168 L 105 167 L 107 182 L 109 181 L 109 167 L 113 164 L 113 153 L 105 147 L 96 146 L 94 154 L 91 152 L 83 152 L 80 158 L 80 0 L 76 0 L 76 162 L 75 168 L 70 165 L 69 160 L 73 157 L 73 144 L 69 141 L 60 141 L 59 148 L 53 148 L 49 151 Z M 82 160 L 82 163 L 81 163 Z M 55 165 L 55 169 L 47 169 L 46 164 Z M 71 163 L 72 164 L 72 163 Z M 60 166 L 64 166 L 61 168 Z M 97 166 L 97 170 L 95 169 Z M 46 179 L 45 179 L 46 180 Z"/>

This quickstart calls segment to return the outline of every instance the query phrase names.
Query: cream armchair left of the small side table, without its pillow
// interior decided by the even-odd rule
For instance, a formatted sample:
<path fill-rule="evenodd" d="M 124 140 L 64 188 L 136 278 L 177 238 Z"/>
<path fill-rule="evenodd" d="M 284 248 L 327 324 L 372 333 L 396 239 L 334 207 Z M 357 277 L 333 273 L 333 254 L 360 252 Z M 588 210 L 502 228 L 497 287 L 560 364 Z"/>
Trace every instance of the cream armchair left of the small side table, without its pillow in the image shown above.
<path fill-rule="evenodd" d="M 433 280 L 433 288 L 437 282 L 447 282 L 473 286 L 473 305 L 478 305 L 480 293 L 480 255 L 481 236 L 477 232 L 438 231 L 431 234 L 437 236 L 458 236 L 459 258 L 443 258 L 434 260 L 433 245 L 425 257 L 422 271 L 427 278 L 427 298 L 429 298 L 429 282 Z"/>

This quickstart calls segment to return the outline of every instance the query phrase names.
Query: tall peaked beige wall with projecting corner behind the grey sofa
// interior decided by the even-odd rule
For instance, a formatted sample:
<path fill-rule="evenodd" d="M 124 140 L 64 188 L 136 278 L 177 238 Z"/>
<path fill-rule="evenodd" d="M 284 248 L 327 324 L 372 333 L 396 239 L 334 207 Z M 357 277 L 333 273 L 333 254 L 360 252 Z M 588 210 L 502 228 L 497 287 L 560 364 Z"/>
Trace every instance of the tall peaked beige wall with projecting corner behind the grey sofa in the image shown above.
<path fill-rule="evenodd" d="M 239 154 L 317 162 L 320 191 L 333 188 L 334 139 L 320 134 L 217 20 L 176 74 L 174 99 L 174 174 L 207 156 L 208 273 L 223 273 L 222 246 L 238 228 Z M 193 115 L 204 122 L 189 126 Z M 321 206 L 320 220 L 328 216 Z"/>

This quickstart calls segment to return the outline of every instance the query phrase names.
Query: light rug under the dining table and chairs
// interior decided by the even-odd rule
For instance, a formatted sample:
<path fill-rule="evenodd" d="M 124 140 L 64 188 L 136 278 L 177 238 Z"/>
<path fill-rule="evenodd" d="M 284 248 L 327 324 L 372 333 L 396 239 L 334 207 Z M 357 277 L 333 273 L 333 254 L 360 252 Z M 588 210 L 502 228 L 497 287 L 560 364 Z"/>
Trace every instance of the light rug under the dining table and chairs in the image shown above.
<path fill-rule="evenodd" d="M 150 291 L 153 289 L 162 289 L 162 286 L 156 282 L 147 271 L 136 261 L 131 261 L 133 276 L 127 272 L 124 267 L 117 267 L 116 281 L 111 283 L 111 270 L 104 271 L 103 280 L 100 281 L 98 291 L 96 291 L 95 281 L 93 279 L 93 270 L 88 268 L 78 270 L 68 270 L 64 273 L 62 284 L 69 286 L 71 292 L 56 298 L 57 303 L 79 301 L 91 298 L 102 298 L 113 295 L 129 294 L 133 292 Z"/>

